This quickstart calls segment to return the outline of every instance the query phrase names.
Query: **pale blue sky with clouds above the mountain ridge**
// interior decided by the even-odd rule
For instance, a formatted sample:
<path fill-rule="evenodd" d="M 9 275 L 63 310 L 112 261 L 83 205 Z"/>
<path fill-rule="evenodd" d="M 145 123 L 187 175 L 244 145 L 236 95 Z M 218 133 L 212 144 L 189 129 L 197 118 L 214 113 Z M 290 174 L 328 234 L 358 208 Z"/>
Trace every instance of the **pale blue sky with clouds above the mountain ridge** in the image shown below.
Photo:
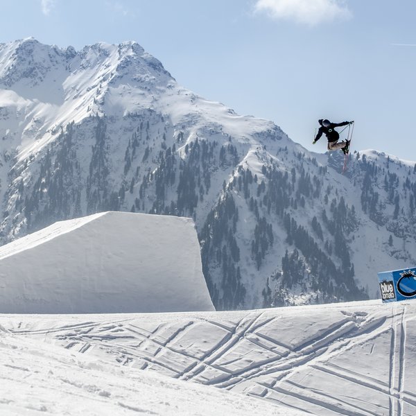
<path fill-rule="evenodd" d="M 415 0 L 0 0 L 0 42 L 135 40 L 178 83 L 314 146 L 355 120 L 353 149 L 416 161 Z"/>

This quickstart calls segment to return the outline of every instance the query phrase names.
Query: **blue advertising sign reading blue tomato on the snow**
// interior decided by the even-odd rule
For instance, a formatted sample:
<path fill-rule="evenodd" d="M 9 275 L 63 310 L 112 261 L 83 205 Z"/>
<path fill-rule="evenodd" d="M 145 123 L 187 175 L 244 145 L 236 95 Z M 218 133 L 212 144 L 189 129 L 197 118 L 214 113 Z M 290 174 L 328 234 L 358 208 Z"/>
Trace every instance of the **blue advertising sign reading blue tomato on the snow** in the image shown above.
<path fill-rule="evenodd" d="M 380 272 L 378 275 L 383 302 L 416 299 L 416 268 Z"/>

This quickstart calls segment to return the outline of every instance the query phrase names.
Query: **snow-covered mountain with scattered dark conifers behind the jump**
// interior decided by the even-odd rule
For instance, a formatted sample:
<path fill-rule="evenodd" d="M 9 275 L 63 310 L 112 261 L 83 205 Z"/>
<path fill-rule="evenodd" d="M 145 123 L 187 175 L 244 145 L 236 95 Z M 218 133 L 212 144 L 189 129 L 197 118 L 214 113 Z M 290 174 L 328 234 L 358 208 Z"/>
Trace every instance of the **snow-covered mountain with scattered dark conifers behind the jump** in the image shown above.
<path fill-rule="evenodd" d="M 191 216 L 218 309 L 376 297 L 414 266 L 415 162 L 311 153 L 135 42 L 0 45 L 1 241 L 100 211 Z M 358 128 L 358 126 L 357 126 Z"/>

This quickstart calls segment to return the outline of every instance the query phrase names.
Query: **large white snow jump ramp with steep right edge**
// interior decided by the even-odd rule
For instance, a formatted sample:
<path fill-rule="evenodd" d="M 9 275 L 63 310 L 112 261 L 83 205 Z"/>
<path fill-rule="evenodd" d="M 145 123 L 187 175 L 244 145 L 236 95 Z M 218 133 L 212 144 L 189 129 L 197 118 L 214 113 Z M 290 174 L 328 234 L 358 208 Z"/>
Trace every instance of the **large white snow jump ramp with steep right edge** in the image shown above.
<path fill-rule="evenodd" d="M 0 313 L 213 310 L 189 218 L 105 212 L 0 248 Z"/>

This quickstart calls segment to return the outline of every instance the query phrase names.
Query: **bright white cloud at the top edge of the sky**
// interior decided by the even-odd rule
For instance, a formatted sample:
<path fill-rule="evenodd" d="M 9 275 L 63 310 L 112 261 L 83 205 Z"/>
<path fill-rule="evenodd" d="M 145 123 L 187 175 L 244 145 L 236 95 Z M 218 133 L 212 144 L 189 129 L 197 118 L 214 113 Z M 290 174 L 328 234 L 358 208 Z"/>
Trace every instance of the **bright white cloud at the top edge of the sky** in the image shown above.
<path fill-rule="evenodd" d="M 254 10 L 264 12 L 272 19 L 293 20 L 311 26 L 352 17 L 345 0 L 257 0 Z"/>

